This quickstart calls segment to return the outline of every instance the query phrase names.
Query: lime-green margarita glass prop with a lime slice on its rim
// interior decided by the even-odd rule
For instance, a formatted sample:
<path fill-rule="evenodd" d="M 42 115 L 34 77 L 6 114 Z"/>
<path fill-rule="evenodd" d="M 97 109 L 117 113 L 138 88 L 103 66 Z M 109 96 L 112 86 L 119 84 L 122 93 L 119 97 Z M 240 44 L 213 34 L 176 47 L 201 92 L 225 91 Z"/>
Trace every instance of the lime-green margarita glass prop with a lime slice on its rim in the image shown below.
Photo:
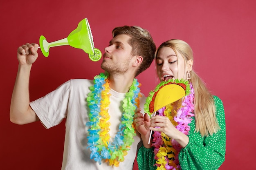
<path fill-rule="evenodd" d="M 90 60 L 97 62 L 101 59 L 101 51 L 94 48 L 92 31 L 88 19 L 81 20 L 77 28 L 72 31 L 67 38 L 57 40 L 54 42 L 47 42 L 46 38 L 41 35 L 39 38 L 40 49 L 45 57 L 49 56 L 50 47 L 70 45 L 76 49 L 82 49 L 89 54 Z"/>

